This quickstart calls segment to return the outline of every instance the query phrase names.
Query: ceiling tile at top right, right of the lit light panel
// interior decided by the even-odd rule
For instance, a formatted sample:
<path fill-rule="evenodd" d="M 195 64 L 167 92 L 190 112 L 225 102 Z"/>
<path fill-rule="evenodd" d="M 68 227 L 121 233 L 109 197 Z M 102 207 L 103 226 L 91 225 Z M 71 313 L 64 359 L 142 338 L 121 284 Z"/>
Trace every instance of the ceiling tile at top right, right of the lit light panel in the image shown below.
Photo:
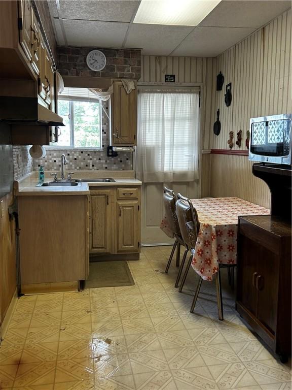
<path fill-rule="evenodd" d="M 200 26 L 259 28 L 288 8 L 291 2 L 282 0 L 222 1 Z"/>

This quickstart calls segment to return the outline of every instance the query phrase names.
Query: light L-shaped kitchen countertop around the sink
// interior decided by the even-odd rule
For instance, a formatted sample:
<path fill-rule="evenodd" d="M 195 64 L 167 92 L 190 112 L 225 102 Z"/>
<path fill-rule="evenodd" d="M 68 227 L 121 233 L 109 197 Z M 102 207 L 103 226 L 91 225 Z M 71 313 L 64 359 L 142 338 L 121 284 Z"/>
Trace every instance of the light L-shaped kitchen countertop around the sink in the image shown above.
<path fill-rule="evenodd" d="M 73 171 L 70 171 L 73 172 Z M 51 173 L 55 171 L 45 172 L 45 182 L 53 181 Z M 56 195 L 90 195 L 89 187 L 113 187 L 113 186 L 132 186 L 141 185 L 140 180 L 135 179 L 134 171 L 74 171 L 72 181 L 76 179 L 100 179 L 113 178 L 113 182 L 87 182 L 78 183 L 76 186 L 59 186 L 59 187 L 36 187 L 38 184 L 38 171 L 33 171 L 14 182 L 14 190 L 16 196 L 56 196 Z M 65 172 L 65 176 L 67 176 Z M 58 178 L 60 174 L 58 172 Z"/>

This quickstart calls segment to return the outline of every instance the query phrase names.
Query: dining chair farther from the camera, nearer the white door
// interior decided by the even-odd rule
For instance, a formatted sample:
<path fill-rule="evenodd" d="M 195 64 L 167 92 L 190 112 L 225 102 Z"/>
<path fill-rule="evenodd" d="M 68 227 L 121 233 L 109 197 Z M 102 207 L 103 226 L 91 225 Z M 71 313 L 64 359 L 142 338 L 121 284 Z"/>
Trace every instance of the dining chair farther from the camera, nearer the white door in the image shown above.
<path fill-rule="evenodd" d="M 175 193 L 172 191 L 172 189 L 163 187 L 163 203 L 164 203 L 165 215 L 166 215 L 167 222 L 169 224 L 169 229 L 173 232 L 173 236 L 175 238 L 175 242 L 173 244 L 167 262 L 165 273 L 167 273 L 169 270 L 175 249 L 176 249 L 176 267 L 179 266 L 180 245 L 184 245 L 184 241 L 181 238 L 178 221 L 175 214 L 175 202 L 176 202 L 176 196 Z"/>

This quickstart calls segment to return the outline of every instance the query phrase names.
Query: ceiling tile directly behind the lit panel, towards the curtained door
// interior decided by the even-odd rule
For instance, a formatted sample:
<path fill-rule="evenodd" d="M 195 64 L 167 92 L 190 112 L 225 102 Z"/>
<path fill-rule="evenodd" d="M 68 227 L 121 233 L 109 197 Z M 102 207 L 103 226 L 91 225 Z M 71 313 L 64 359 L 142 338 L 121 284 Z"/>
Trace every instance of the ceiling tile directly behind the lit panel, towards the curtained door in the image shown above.
<path fill-rule="evenodd" d="M 142 48 L 142 54 L 168 55 L 194 27 L 131 24 L 127 48 Z"/>

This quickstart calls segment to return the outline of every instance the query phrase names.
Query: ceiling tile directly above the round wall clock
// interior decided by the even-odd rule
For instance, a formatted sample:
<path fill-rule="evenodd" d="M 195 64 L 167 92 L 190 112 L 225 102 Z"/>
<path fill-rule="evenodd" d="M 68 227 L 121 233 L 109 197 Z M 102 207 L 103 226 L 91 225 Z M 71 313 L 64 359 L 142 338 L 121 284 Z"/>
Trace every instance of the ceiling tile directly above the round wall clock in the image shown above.
<path fill-rule="evenodd" d="M 63 20 L 69 46 L 121 47 L 129 23 Z"/>

